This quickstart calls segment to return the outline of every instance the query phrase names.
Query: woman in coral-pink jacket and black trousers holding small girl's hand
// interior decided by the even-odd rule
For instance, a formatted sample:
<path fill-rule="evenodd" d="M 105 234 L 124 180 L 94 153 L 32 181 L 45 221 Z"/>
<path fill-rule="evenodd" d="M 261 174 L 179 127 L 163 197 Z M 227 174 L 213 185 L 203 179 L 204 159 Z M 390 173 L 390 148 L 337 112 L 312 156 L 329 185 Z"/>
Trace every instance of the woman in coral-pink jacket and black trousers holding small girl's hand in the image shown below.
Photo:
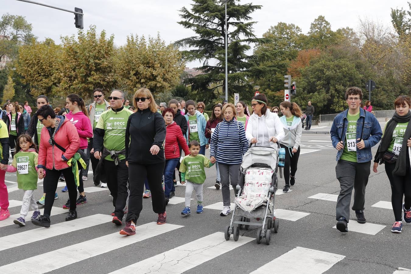
<path fill-rule="evenodd" d="M 54 203 L 54 193 L 61 173 L 65 176 L 70 197 L 70 210 L 66 216 L 66 221 L 77 218 L 77 187 L 74 182 L 73 168 L 67 164 L 67 161 L 79 150 L 80 138 L 76 127 L 65 116 L 57 117 L 50 106 L 42 106 L 36 115 L 44 125 L 40 137 L 37 174 L 39 179 L 44 178 L 43 188 L 46 199 L 44 201 L 44 214 L 38 219 L 33 219 L 32 223 L 36 226 L 50 227 L 51 207 Z"/>

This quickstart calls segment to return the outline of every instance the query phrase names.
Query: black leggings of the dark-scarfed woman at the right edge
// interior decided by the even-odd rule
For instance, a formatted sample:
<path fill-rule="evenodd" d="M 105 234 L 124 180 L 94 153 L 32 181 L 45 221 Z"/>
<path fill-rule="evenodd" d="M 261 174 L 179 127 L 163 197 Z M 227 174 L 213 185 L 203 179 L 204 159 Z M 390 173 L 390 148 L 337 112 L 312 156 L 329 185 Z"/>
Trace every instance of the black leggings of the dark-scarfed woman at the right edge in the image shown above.
<path fill-rule="evenodd" d="M 386 173 L 391 184 L 391 204 L 393 205 L 395 221 L 402 220 L 402 197 L 404 198 L 404 207 L 411 207 L 411 174 L 409 166 L 409 157 L 407 157 L 407 168 L 405 176 L 393 175 L 395 163 L 386 163 Z"/>

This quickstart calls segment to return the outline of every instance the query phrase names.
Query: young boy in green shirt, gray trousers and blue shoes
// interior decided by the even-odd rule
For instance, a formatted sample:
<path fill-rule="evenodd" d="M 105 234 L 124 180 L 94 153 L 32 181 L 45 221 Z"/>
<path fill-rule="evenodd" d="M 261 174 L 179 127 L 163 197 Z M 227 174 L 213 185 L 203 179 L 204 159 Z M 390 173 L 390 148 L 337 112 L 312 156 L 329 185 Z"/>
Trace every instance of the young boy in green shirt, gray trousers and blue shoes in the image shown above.
<path fill-rule="evenodd" d="M 213 166 L 210 160 L 200 152 L 200 143 L 192 140 L 188 144 L 190 155 L 184 157 L 180 164 L 181 184 L 187 183 L 185 187 L 185 207 L 182 210 L 182 215 L 191 214 L 190 199 L 193 189 L 197 194 L 197 213 L 203 213 L 203 184 L 205 181 L 204 168 Z"/>

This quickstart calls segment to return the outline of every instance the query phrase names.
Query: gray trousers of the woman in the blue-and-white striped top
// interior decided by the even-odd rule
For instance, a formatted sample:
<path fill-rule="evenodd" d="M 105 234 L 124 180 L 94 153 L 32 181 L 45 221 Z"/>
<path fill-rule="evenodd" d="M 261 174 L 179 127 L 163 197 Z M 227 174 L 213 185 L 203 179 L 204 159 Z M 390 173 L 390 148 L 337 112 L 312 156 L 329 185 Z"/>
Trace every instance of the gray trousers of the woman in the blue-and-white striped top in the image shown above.
<path fill-rule="evenodd" d="M 221 193 L 223 195 L 223 206 L 230 206 L 230 182 L 234 189 L 240 180 L 240 166 L 236 165 L 226 165 L 224 163 L 219 163 L 218 168 L 221 177 Z"/>

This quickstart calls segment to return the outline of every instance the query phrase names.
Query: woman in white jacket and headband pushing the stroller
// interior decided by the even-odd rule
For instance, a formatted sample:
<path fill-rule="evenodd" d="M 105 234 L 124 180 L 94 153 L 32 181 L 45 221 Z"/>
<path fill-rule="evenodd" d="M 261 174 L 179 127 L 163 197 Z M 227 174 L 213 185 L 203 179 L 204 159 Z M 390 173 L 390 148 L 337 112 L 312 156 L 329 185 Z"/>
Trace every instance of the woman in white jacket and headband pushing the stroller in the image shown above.
<path fill-rule="evenodd" d="M 266 95 L 261 93 L 253 97 L 251 107 L 254 113 L 248 119 L 245 136 L 257 146 L 275 147 L 274 143 L 281 142 L 284 138 L 284 129 L 277 113 L 270 112 L 267 104 Z"/>

